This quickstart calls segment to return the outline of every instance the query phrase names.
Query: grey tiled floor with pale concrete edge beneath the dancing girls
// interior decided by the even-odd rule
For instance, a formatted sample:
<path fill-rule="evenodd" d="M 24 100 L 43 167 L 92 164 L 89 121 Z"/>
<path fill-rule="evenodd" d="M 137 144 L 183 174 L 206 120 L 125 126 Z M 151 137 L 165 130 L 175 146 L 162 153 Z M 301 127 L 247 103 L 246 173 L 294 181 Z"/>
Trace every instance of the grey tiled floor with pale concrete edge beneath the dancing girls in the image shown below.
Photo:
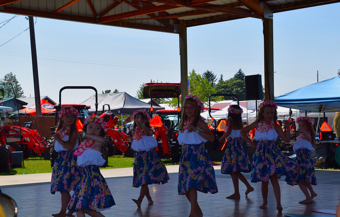
<path fill-rule="evenodd" d="M 132 187 L 132 168 L 101 170 L 109 188 L 112 191 L 116 205 L 102 213 L 106 217 L 186 217 L 190 212 L 190 203 L 183 195 L 177 193 L 178 165 L 167 166 L 170 180 L 164 185 L 150 185 L 150 194 L 153 205 L 143 201 L 141 208 L 131 200 L 137 198 L 140 188 Z M 204 216 L 256 216 L 279 217 L 277 213 L 274 194 L 269 185 L 269 204 L 266 209 L 260 209 L 262 204 L 261 183 L 252 183 L 255 190 L 248 197 L 241 199 L 225 199 L 233 193 L 234 188 L 231 177 L 220 173 L 220 167 L 215 166 L 216 179 L 219 192 L 217 194 L 198 193 L 198 202 Z M 250 180 L 250 173 L 245 173 Z M 318 194 L 312 204 L 299 204 L 305 197 L 298 186 L 290 186 L 280 179 L 281 200 L 284 207 L 283 213 L 318 214 L 313 209 L 335 210 L 340 199 L 340 171 L 317 170 L 318 185 L 313 186 Z M 26 174 L 16 176 L 0 176 L 1 190 L 11 196 L 18 205 L 18 216 L 23 217 L 49 217 L 52 213 L 60 211 L 60 194 L 50 194 L 51 173 Z M 240 182 L 240 192 L 245 191 L 245 186 Z M 76 216 L 74 214 L 74 216 Z"/>

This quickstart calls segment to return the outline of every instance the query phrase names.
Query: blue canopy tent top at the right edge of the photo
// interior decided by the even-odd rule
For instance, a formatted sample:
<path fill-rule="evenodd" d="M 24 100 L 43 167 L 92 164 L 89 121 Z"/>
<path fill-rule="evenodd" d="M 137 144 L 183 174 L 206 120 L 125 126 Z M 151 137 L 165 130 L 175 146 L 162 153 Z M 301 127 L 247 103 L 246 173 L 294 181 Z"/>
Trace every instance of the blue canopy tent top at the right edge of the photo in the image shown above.
<path fill-rule="evenodd" d="M 282 107 L 291 109 L 311 112 L 340 112 L 340 77 L 301 87 L 274 97 L 274 101 Z"/>

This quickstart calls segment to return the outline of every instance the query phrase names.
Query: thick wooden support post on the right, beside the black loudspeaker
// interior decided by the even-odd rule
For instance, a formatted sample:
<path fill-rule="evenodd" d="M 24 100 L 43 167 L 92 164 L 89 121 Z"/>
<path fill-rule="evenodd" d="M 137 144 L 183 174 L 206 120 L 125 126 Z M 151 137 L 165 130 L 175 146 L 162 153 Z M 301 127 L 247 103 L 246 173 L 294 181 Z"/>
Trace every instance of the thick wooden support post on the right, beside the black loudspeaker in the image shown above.
<path fill-rule="evenodd" d="M 263 18 L 263 39 L 265 49 L 265 100 L 274 100 L 274 48 L 272 19 Z"/>

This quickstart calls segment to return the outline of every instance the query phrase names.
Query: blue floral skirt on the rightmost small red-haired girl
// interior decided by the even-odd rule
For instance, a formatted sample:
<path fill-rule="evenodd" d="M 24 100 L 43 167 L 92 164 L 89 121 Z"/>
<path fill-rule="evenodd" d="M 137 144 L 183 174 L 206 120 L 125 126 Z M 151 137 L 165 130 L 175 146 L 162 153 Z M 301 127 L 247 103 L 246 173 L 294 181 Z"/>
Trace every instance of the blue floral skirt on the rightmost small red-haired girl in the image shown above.
<path fill-rule="evenodd" d="M 300 181 L 308 181 L 312 185 L 317 185 L 315 177 L 314 162 L 310 157 L 310 150 L 301 148 L 296 150 L 295 170 L 291 177 L 286 177 L 285 181 L 289 185 L 297 185 Z"/>

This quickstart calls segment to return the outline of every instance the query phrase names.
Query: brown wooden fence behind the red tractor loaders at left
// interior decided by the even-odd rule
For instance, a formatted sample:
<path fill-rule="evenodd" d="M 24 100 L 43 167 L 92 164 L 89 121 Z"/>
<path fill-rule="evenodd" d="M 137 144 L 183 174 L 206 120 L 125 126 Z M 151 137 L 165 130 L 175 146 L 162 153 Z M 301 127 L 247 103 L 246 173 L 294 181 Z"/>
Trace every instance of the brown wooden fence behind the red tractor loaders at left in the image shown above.
<path fill-rule="evenodd" d="M 31 129 L 38 130 L 41 136 L 51 137 L 50 127 L 55 127 L 55 116 L 23 116 L 20 115 L 20 127 L 25 127 L 25 122 L 32 121 Z"/>

